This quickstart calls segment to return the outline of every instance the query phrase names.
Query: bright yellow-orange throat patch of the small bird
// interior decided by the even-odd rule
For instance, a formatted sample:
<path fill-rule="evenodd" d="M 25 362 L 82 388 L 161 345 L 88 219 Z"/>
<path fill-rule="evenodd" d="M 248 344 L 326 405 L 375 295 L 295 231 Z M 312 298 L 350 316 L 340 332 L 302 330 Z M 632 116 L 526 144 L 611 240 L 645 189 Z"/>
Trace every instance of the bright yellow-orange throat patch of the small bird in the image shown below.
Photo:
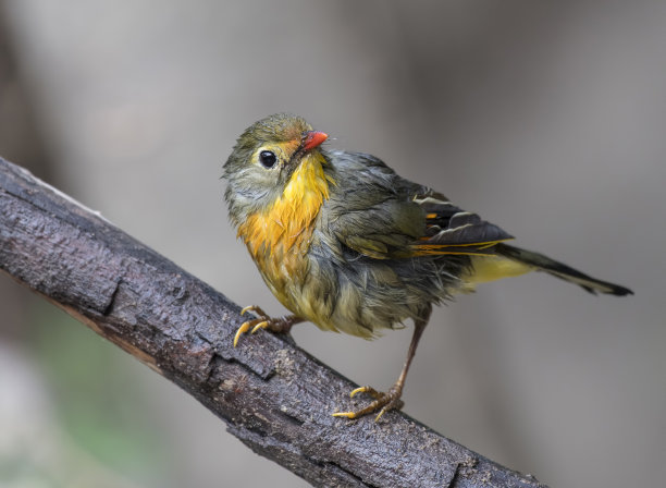
<path fill-rule="evenodd" d="M 321 154 L 306 154 L 280 198 L 238 225 L 238 236 L 255 259 L 309 245 L 314 219 L 329 198 L 329 183 L 335 183 L 324 174 L 325 163 Z"/>

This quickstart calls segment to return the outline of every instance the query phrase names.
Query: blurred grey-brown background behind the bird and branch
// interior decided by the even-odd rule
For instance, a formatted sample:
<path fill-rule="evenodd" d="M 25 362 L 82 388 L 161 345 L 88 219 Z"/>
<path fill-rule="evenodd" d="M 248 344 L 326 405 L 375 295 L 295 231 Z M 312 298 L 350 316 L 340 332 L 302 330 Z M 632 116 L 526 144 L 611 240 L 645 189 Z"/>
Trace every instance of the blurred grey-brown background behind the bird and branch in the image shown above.
<path fill-rule="evenodd" d="M 553 487 L 666 477 L 666 2 L 0 0 L 0 155 L 235 302 L 222 200 L 278 111 L 636 296 L 538 273 L 439 308 L 405 411 Z M 0 276 L 0 486 L 306 486 Z M 388 388 L 411 327 L 296 342 Z"/>

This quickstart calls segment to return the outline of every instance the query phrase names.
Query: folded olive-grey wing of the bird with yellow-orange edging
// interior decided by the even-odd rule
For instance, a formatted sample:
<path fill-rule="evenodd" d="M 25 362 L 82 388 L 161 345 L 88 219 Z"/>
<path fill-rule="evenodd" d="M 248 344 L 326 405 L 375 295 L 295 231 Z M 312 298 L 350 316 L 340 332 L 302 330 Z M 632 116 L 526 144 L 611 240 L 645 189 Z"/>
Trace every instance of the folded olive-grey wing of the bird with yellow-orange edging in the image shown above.
<path fill-rule="evenodd" d="M 405 180 L 381 160 L 335 155 L 345 184 L 333 192 L 328 227 L 345 246 L 377 259 L 489 255 L 511 235 L 444 195 Z"/>

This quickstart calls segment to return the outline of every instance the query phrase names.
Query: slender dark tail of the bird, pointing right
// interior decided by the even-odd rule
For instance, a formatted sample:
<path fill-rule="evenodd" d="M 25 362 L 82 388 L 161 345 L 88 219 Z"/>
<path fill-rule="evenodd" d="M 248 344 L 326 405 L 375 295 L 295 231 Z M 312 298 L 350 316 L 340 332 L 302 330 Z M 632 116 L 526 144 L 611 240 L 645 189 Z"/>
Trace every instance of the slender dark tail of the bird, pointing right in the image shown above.
<path fill-rule="evenodd" d="M 493 251 L 501 256 L 508 257 L 509 259 L 536 268 L 538 271 L 545 271 L 548 274 L 553 274 L 562 280 L 576 283 L 592 294 L 596 294 L 597 292 L 617 296 L 633 294 L 631 290 L 625 286 L 589 277 L 588 274 L 570 268 L 562 263 L 557 263 L 543 254 L 521 249 L 504 243 L 496 244 L 493 247 Z"/>

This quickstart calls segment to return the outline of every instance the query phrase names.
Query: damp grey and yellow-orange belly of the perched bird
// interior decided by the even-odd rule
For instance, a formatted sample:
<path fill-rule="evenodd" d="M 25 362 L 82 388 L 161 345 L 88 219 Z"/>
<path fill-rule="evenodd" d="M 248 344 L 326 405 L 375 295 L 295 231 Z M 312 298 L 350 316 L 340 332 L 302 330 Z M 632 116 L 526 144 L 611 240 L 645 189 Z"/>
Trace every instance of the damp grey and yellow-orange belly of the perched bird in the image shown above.
<path fill-rule="evenodd" d="M 371 339 L 420 317 L 452 292 L 434 266 L 340 261 L 323 257 L 330 253 L 311 251 L 259 255 L 257 266 L 282 305 L 322 330 Z"/>

